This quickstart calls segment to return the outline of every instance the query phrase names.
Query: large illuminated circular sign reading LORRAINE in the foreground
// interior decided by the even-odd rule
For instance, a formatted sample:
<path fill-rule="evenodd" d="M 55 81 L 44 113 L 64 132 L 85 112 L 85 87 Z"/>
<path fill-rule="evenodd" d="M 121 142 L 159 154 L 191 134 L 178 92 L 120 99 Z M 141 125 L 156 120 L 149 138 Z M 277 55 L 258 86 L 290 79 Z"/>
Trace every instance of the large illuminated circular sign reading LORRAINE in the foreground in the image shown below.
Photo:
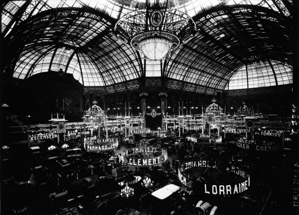
<path fill-rule="evenodd" d="M 187 174 L 190 170 L 194 168 L 208 168 L 210 165 L 207 160 L 188 160 L 182 163 L 178 169 L 178 177 L 179 181 L 187 185 Z M 235 176 L 236 179 L 239 179 L 237 183 L 212 183 L 212 182 L 199 182 L 197 185 L 193 185 L 193 187 L 197 187 L 199 192 L 212 195 L 212 196 L 229 196 L 242 193 L 248 190 L 250 186 L 250 175 L 242 170 L 241 168 L 230 165 L 225 170 L 226 172 Z"/>

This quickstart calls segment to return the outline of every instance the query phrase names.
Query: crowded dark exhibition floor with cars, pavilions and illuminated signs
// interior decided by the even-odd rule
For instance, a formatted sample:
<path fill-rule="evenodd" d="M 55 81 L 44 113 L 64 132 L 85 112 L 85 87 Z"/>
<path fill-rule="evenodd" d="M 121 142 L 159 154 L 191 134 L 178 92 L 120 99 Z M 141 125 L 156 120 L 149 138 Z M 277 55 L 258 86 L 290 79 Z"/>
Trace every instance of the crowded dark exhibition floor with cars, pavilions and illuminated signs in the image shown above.
<path fill-rule="evenodd" d="M 165 130 L 153 131 L 143 115 L 113 119 L 93 103 L 83 122 L 52 115 L 30 125 L 28 144 L 2 147 L 6 212 L 292 213 L 287 119 L 218 115 L 209 106 L 198 119 L 164 114 Z"/>

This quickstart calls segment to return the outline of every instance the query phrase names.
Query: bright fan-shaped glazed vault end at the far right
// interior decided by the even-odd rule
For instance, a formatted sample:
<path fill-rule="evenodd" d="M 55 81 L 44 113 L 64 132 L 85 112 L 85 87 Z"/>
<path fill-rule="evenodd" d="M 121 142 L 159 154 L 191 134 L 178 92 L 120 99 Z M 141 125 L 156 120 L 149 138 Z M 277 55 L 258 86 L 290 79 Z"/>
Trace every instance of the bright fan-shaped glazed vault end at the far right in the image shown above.
<path fill-rule="evenodd" d="M 254 62 L 242 66 L 225 89 L 247 89 L 293 83 L 292 67 L 276 61 Z"/>

